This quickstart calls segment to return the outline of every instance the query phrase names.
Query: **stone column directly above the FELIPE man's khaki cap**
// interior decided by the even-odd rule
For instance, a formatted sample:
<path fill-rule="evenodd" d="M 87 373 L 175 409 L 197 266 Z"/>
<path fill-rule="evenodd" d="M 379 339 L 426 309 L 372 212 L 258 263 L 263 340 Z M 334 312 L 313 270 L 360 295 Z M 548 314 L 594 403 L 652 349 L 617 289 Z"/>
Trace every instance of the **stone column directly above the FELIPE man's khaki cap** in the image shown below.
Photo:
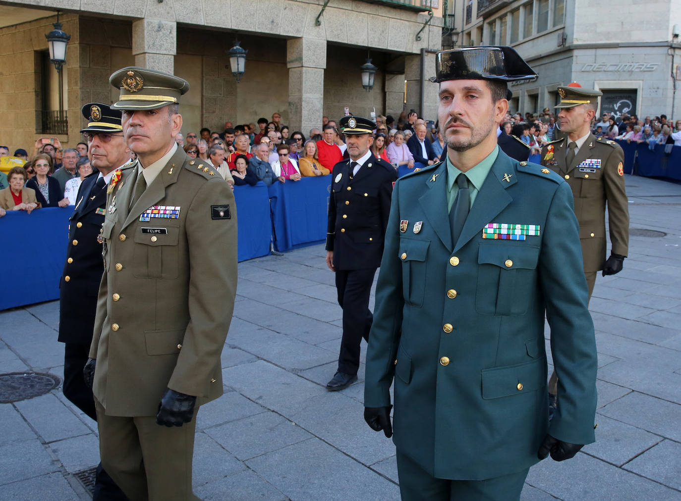
<path fill-rule="evenodd" d="M 132 23 L 132 53 L 135 65 L 173 73 L 177 52 L 174 21 L 140 19 Z"/>

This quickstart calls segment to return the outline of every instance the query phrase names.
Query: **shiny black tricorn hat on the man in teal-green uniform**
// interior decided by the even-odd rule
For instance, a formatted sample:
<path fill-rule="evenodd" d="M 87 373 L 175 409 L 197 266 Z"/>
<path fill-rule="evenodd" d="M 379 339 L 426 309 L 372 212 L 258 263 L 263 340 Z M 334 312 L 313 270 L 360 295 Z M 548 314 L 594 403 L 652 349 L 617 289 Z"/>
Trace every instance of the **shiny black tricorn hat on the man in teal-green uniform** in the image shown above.
<path fill-rule="evenodd" d="M 435 56 L 435 76 L 445 80 L 535 80 L 537 73 L 510 47 L 466 47 L 443 50 Z"/>

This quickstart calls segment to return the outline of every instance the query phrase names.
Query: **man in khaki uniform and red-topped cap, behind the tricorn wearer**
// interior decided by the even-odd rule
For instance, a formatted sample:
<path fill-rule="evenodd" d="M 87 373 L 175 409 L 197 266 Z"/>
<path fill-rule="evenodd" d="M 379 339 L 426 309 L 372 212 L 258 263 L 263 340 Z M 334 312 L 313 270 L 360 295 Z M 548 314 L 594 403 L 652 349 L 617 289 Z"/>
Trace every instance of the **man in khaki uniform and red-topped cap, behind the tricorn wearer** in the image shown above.
<path fill-rule="evenodd" d="M 572 188 L 575 215 L 580 223 L 584 275 L 589 298 L 596 273 L 603 276 L 622 271 L 629 252 L 629 201 L 624 189 L 624 152 L 618 143 L 595 137 L 591 121 L 598 111 L 599 90 L 572 83 L 558 87 L 558 122 L 567 135 L 545 145 L 541 165 L 556 171 Z M 605 207 L 612 248 L 605 259 Z M 550 412 L 556 408 L 556 371 L 549 381 Z"/>

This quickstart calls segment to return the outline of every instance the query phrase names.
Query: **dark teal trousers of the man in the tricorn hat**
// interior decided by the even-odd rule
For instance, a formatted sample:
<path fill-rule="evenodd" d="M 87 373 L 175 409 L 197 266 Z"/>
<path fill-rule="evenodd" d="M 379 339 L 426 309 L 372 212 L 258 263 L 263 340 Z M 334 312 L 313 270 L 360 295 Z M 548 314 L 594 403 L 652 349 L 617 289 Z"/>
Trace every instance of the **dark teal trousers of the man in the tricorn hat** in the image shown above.
<path fill-rule="evenodd" d="M 436 479 L 397 451 L 402 501 L 517 501 L 529 471 L 487 480 Z"/>

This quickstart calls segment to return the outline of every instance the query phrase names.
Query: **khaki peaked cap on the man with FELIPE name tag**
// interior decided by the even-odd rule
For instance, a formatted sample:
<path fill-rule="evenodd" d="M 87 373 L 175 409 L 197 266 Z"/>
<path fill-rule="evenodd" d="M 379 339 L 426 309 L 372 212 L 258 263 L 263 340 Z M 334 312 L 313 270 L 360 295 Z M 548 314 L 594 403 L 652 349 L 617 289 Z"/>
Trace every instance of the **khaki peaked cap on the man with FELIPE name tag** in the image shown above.
<path fill-rule="evenodd" d="M 109 83 L 121 89 L 113 109 L 156 109 L 180 102 L 189 90 L 189 82 L 162 71 L 129 66 L 109 77 Z"/>

